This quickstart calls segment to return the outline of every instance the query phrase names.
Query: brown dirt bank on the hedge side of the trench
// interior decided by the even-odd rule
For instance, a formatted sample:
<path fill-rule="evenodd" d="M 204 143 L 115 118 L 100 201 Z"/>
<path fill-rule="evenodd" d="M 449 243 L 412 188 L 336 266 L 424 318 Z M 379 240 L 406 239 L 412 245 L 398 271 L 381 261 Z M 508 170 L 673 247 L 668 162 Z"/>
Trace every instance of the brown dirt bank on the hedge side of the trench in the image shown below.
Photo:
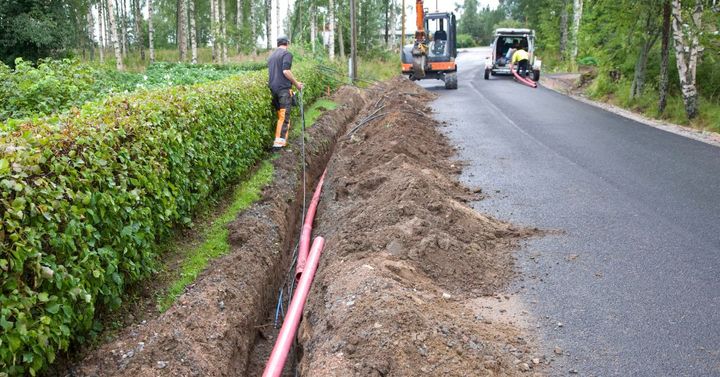
<path fill-rule="evenodd" d="M 364 106 L 342 88 L 339 107 L 308 130 L 308 191 L 345 125 Z M 167 312 L 126 328 L 69 373 L 76 376 L 242 376 L 258 327 L 276 300 L 295 243 L 302 204 L 299 140 L 274 161 L 261 202 L 230 225 L 231 251 L 214 261 Z"/>

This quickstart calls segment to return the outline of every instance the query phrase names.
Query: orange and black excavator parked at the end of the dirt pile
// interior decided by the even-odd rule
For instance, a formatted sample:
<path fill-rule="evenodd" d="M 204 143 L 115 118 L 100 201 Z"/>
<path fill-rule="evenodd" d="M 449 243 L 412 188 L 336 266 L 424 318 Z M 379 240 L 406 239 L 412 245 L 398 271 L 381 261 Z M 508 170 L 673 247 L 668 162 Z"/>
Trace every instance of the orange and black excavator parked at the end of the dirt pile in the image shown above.
<path fill-rule="evenodd" d="M 415 1 L 415 10 L 415 42 L 403 46 L 402 73 L 410 80 L 443 80 L 446 89 L 457 89 L 455 14 L 428 13 L 423 0 Z"/>

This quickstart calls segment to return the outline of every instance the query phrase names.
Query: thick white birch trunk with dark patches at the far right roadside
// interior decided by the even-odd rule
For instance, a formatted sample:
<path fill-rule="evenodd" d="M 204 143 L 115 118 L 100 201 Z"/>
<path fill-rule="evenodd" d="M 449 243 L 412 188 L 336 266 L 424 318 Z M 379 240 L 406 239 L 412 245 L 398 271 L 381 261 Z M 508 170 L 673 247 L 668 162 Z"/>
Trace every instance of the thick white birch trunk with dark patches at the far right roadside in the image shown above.
<path fill-rule="evenodd" d="M 698 114 L 698 92 L 695 84 L 697 61 L 700 53 L 700 31 L 702 28 L 702 0 L 695 0 L 695 7 L 690 20 L 683 24 L 682 5 L 680 0 L 672 2 L 673 39 L 675 40 L 675 56 L 680 76 L 685 113 L 688 119 Z"/>

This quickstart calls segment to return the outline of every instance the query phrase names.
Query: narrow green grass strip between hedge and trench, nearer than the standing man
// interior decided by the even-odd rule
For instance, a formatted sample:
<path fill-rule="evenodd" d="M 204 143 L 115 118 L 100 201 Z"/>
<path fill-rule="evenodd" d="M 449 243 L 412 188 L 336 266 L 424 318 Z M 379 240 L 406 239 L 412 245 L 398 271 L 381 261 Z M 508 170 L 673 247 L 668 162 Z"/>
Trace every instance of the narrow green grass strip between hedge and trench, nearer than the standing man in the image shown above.
<path fill-rule="evenodd" d="M 195 281 L 211 260 L 230 251 L 227 225 L 241 211 L 260 200 L 262 189 L 272 181 L 273 172 L 271 160 L 265 160 L 252 177 L 235 190 L 228 208 L 202 232 L 202 244 L 187 252 L 179 277 L 169 285 L 167 293 L 158 299 L 159 311 L 164 312 L 170 308 L 185 287 Z"/>

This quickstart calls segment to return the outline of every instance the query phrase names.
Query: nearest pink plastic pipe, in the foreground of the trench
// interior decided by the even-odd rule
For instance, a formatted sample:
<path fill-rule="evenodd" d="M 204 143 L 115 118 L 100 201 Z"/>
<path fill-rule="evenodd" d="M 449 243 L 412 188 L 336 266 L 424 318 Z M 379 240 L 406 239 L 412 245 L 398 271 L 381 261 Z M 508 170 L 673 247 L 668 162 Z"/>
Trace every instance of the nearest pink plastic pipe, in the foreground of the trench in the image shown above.
<path fill-rule="evenodd" d="M 300 277 L 300 282 L 290 301 L 285 321 L 283 321 L 277 341 L 275 341 L 275 347 L 273 347 L 270 359 L 268 359 L 268 363 L 265 365 L 263 377 L 277 377 L 282 373 L 288 352 L 290 351 L 290 346 L 295 339 L 295 333 L 300 323 L 300 317 L 302 317 L 303 307 L 305 306 L 305 301 L 307 301 L 310 285 L 312 284 L 313 278 L 315 278 L 315 271 L 317 271 L 320 255 L 324 247 L 325 239 L 322 237 L 315 238 L 307 258 L 306 270 Z"/>

